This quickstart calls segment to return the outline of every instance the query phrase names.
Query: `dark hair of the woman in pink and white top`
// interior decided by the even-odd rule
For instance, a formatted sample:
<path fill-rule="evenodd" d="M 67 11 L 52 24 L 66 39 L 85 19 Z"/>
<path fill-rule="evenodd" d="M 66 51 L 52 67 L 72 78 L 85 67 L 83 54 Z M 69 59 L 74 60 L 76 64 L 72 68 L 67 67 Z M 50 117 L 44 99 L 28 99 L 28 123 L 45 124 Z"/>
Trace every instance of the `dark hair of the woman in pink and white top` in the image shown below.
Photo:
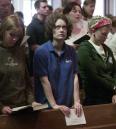
<path fill-rule="evenodd" d="M 81 9 L 81 6 L 80 6 L 79 4 L 77 4 L 76 2 L 69 2 L 69 3 L 66 4 L 66 6 L 64 7 L 64 9 L 63 9 L 63 14 L 68 14 L 68 13 L 70 13 L 70 11 L 75 8 L 75 6 L 79 6 L 80 9 Z"/>

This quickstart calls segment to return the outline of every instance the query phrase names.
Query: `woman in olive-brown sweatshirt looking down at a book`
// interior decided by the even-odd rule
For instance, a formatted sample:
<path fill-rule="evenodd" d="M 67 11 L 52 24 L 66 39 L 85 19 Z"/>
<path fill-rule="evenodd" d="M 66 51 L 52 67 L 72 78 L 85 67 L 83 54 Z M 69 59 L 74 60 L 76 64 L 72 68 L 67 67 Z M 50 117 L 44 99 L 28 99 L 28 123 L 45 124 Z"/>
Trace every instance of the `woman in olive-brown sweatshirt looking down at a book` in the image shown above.
<path fill-rule="evenodd" d="M 34 101 L 29 80 L 26 56 L 21 41 L 24 25 L 14 16 L 8 16 L 0 26 L 0 112 L 12 113 L 12 108 Z"/>

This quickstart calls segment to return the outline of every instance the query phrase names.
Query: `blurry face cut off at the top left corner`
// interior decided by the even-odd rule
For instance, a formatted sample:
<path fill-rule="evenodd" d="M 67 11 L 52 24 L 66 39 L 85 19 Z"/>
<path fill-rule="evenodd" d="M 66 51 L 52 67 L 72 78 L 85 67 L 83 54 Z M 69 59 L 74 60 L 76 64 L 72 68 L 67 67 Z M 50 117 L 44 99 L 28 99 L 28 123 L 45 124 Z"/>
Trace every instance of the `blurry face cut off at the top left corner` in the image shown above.
<path fill-rule="evenodd" d="M 10 0 L 0 0 L 0 18 L 3 20 L 11 12 Z"/>

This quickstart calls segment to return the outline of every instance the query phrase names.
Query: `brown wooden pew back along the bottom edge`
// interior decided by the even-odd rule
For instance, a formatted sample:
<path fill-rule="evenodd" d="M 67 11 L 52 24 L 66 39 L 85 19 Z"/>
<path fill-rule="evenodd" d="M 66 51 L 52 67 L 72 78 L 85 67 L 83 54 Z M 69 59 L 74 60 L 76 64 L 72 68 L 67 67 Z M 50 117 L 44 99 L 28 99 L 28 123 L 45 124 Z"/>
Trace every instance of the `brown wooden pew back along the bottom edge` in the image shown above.
<path fill-rule="evenodd" d="M 116 129 L 116 105 L 84 107 L 86 125 L 66 126 L 59 110 L 0 116 L 0 129 Z"/>

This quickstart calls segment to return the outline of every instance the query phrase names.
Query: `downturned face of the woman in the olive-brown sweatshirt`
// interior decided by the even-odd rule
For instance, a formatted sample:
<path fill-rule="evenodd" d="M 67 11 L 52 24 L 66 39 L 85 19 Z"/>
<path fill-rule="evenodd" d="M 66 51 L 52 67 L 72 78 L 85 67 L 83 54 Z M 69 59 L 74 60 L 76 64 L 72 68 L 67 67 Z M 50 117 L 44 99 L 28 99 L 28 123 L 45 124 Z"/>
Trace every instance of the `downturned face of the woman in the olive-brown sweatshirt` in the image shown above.
<path fill-rule="evenodd" d="M 4 46 L 6 47 L 13 47 L 16 45 L 17 41 L 20 39 L 22 33 L 22 29 L 12 29 L 7 30 L 4 34 Z"/>

